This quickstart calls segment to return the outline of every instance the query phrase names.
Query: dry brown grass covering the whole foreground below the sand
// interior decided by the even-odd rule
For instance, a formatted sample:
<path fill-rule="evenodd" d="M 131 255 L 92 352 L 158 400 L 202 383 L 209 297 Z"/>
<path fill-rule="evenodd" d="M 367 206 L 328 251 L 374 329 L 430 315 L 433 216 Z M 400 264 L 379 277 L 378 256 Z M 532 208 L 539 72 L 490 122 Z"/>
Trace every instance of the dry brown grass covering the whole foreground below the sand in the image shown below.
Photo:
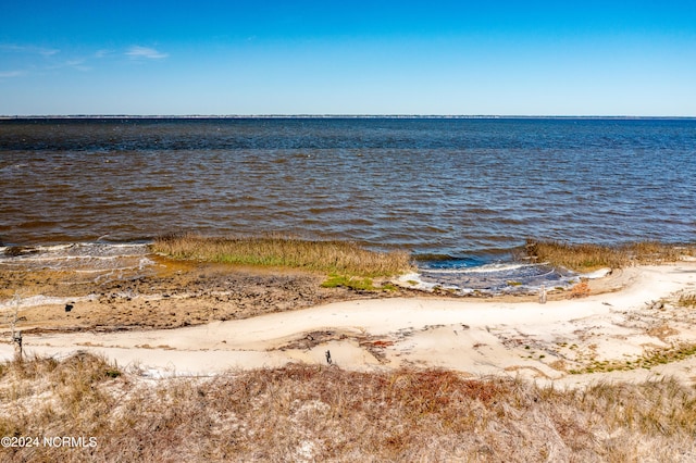
<path fill-rule="evenodd" d="M 672 379 L 542 388 L 448 371 L 288 365 L 151 383 L 89 355 L 0 370 L 3 461 L 689 461 L 696 390 Z"/>

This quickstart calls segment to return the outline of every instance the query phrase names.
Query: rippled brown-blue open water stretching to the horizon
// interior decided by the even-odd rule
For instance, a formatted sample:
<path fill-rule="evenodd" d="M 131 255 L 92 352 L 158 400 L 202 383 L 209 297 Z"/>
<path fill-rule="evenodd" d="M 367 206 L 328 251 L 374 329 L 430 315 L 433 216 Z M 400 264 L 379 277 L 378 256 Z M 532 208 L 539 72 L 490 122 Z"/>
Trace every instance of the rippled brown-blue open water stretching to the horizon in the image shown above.
<path fill-rule="evenodd" d="M 0 121 L 0 240 L 283 232 L 462 265 L 693 242 L 695 161 L 696 120 Z"/>

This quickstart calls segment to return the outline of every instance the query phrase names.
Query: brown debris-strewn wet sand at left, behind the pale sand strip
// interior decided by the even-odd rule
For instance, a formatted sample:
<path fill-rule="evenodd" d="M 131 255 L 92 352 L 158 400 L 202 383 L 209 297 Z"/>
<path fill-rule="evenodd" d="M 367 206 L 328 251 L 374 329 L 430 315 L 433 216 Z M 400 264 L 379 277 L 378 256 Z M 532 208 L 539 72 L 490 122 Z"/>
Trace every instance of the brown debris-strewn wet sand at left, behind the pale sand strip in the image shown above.
<path fill-rule="evenodd" d="M 151 258 L 150 272 L 119 278 L 72 271 L 0 272 L 0 330 L 7 330 L 4 318 L 13 312 L 15 296 L 21 299 L 17 328 L 26 334 L 177 328 L 368 297 L 322 288 L 324 278 L 309 273 Z"/>

